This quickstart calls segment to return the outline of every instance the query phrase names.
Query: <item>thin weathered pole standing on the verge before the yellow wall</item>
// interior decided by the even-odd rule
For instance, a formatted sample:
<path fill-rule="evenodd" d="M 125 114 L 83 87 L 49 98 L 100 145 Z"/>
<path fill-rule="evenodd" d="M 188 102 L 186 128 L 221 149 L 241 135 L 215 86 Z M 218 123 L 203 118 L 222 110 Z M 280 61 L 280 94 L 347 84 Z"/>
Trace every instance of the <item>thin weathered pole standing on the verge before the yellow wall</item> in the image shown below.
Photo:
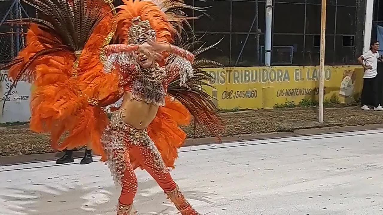
<path fill-rule="evenodd" d="M 319 61 L 319 122 L 323 122 L 323 89 L 324 89 L 324 50 L 326 42 L 326 0 L 322 0 L 321 10 L 321 53 Z"/>

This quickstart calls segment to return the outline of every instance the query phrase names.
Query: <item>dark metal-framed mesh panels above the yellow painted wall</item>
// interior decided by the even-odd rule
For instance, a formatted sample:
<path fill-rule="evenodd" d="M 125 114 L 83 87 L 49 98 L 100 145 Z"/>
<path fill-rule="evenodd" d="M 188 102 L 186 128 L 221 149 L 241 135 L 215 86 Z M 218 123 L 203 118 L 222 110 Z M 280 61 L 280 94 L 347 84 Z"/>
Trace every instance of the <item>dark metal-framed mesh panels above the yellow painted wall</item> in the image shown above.
<path fill-rule="evenodd" d="M 203 57 L 230 66 L 264 65 L 265 0 L 187 0 L 206 7 L 207 16 L 192 21 L 209 44 L 224 37 Z M 327 0 L 327 65 L 357 64 L 363 48 L 365 0 Z M 383 3 L 382 3 L 383 5 Z M 194 11 L 194 15 L 198 11 Z M 318 65 L 321 0 L 274 0 L 272 65 Z"/>

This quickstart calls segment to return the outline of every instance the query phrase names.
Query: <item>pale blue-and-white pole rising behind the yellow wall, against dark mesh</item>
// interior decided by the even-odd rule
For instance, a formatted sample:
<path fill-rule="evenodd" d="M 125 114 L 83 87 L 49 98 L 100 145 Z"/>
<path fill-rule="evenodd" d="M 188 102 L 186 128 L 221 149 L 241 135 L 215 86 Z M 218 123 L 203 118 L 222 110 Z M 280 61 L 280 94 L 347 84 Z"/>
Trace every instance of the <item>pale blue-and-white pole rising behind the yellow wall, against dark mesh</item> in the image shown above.
<path fill-rule="evenodd" d="M 273 0 L 266 0 L 265 26 L 265 66 L 271 65 L 271 30 L 273 23 Z"/>

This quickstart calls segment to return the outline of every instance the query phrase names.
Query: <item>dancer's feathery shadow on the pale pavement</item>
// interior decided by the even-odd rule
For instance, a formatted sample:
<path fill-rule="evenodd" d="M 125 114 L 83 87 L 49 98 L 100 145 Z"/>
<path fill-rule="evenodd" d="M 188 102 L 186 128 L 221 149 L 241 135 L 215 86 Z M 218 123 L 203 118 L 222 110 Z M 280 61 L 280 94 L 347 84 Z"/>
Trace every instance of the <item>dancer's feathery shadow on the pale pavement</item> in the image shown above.
<path fill-rule="evenodd" d="M 32 188 L 30 185 L 29 188 L 8 187 L 0 194 L 3 202 L 0 213 L 2 215 L 115 215 L 120 188 L 95 186 L 94 183 L 80 186 L 75 182 L 69 185 L 57 182 L 56 185 L 33 184 Z M 153 192 L 152 188 L 155 186 L 158 185 L 154 180 L 139 183 L 140 189 L 134 201 L 137 214 L 177 214 L 178 211 L 166 199 L 163 192 Z M 208 204 L 214 204 L 211 197 L 216 195 L 200 191 L 183 191 L 183 194 L 189 200 Z M 156 211 L 148 211 L 149 208 L 155 208 Z"/>

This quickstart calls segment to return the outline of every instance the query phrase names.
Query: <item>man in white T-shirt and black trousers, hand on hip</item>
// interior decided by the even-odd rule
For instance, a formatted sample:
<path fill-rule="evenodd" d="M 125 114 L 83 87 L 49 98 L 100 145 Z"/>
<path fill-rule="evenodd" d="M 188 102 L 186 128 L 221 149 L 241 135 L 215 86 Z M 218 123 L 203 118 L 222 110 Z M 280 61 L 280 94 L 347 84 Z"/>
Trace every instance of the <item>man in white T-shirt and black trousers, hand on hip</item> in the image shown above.
<path fill-rule="evenodd" d="M 362 110 L 369 111 L 368 106 L 373 106 L 374 111 L 383 111 L 379 102 L 379 89 L 378 86 L 378 60 L 382 61 L 382 57 L 378 53 L 379 42 L 373 41 L 370 44 L 370 50 L 358 57 L 358 62 L 364 68 L 363 75 L 363 90 L 362 90 Z"/>

